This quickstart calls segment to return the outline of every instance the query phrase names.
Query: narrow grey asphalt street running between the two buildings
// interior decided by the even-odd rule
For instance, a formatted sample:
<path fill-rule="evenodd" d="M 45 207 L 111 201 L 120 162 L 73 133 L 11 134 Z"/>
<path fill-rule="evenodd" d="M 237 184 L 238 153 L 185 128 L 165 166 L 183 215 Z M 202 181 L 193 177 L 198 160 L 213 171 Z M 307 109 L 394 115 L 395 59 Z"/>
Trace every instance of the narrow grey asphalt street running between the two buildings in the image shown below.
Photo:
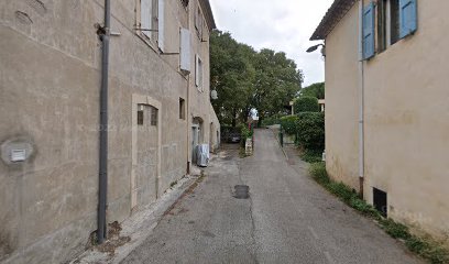
<path fill-rule="evenodd" d="M 222 150 L 206 177 L 122 263 L 420 263 L 287 160 L 271 130 Z M 234 198 L 248 185 L 249 199 Z"/>

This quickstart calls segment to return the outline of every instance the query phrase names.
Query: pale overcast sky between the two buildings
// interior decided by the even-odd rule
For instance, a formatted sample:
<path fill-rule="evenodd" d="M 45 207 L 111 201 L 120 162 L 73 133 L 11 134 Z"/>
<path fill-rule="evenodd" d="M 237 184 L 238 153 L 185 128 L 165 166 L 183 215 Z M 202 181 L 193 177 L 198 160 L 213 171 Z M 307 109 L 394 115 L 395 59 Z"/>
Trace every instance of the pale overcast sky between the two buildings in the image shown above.
<path fill-rule="evenodd" d="M 253 46 L 282 51 L 303 69 L 303 86 L 325 80 L 319 52 L 306 50 L 333 0 L 210 0 L 217 28 Z"/>

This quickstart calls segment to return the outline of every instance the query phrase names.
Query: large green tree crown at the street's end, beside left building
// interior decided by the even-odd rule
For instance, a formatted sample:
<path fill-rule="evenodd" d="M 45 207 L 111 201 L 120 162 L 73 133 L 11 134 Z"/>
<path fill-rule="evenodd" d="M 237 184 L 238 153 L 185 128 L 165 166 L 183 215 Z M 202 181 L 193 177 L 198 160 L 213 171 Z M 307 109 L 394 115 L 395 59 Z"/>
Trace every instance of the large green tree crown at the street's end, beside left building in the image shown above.
<path fill-rule="evenodd" d="M 254 51 L 238 43 L 230 33 L 210 36 L 211 89 L 218 92 L 212 106 L 222 124 L 244 122 L 251 108 L 261 120 L 285 111 L 297 95 L 303 74 L 283 52 Z"/>

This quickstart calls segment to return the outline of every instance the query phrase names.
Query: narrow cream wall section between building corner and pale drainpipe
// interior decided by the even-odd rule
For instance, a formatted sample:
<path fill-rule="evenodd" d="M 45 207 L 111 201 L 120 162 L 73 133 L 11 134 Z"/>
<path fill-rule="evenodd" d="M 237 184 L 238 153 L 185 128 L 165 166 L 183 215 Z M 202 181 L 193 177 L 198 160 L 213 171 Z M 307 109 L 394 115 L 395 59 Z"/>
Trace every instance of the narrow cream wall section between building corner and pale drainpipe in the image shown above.
<path fill-rule="evenodd" d="M 326 40 L 326 167 L 359 189 L 358 8 Z"/>

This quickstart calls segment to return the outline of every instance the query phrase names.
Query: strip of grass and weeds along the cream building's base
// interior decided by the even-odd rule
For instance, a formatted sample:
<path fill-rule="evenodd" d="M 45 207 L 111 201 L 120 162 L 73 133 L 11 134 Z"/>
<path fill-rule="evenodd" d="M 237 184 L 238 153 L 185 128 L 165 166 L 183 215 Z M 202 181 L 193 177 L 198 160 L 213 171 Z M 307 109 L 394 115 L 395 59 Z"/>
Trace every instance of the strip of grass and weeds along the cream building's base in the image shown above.
<path fill-rule="evenodd" d="M 404 241 L 407 249 L 432 264 L 449 263 L 449 251 L 441 246 L 431 238 L 420 238 L 409 232 L 408 227 L 395 222 L 392 219 L 385 219 L 382 215 L 366 201 L 359 197 L 354 189 L 351 189 L 342 183 L 333 182 L 329 178 L 326 172 L 326 164 L 324 162 L 314 163 L 309 167 L 311 177 L 337 196 L 340 200 L 346 202 L 365 217 L 369 217 L 385 230 L 394 239 Z"/>

